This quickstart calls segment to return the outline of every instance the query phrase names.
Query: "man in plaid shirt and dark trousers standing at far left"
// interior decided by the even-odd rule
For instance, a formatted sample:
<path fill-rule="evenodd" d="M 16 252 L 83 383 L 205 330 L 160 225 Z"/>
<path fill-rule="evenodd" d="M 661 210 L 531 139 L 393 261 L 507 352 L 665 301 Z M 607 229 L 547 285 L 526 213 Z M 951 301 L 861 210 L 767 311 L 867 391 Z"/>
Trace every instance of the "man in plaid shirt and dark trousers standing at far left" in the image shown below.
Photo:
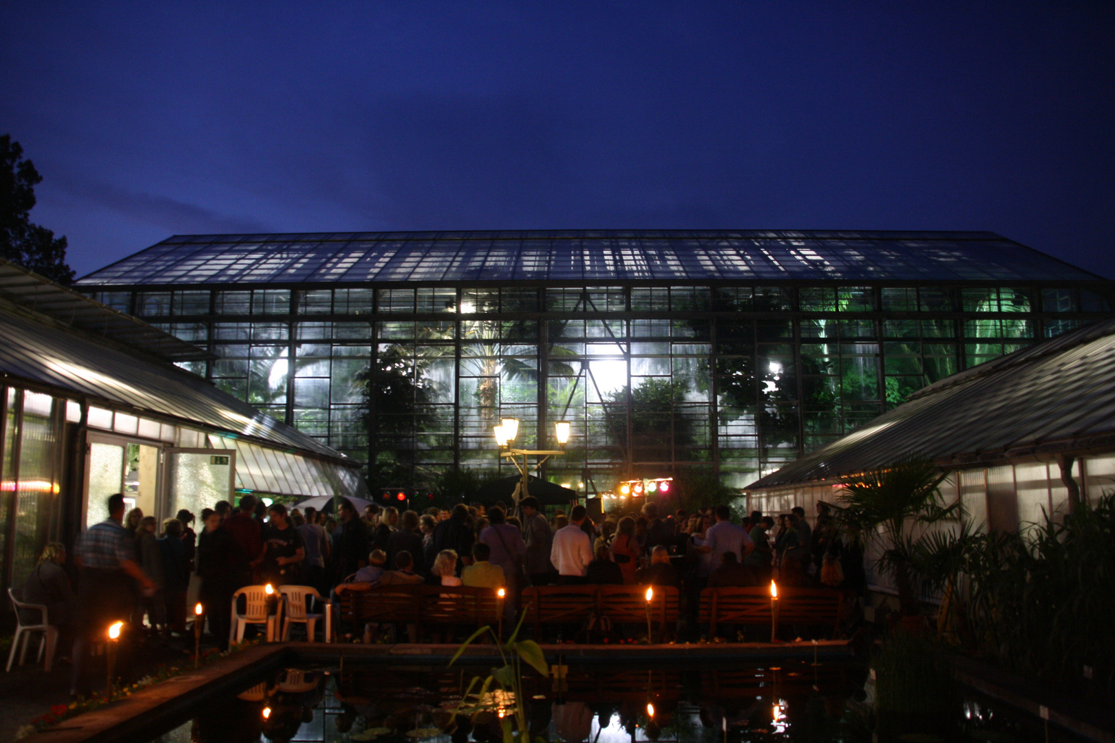
<path fill-rule="evenodd" d="M 74 643 L 71 696 L 88 696 L 89 646 L 104 638 L 114 622 L 127 622 L 136 603 L 136 584 L 153 592 L 155 583 L 139 568 L 135 541 L 124 528 L 124 495 L 108 497 L 108 518 L 89 527 L 74 550 L 80 568 L 78 617 Z"/>

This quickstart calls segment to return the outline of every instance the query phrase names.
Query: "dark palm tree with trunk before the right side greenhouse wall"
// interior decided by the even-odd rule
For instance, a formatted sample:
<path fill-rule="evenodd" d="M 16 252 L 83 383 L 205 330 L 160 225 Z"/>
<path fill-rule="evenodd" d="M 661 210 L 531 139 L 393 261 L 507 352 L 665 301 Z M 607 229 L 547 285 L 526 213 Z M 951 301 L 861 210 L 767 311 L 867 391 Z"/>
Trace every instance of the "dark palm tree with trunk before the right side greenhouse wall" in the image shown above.
<path fill-rule="evenodd" d="M 834 520 L 882 549 L 876 566 L 890 573 L 899 592 L 902 614 L 918 614 L 911 563 L 925 538 L 923 525 L 961 511 L 959 501 L 944 505 L 940 485 L 947 475 L 920 454 L 841 480 Z"/>

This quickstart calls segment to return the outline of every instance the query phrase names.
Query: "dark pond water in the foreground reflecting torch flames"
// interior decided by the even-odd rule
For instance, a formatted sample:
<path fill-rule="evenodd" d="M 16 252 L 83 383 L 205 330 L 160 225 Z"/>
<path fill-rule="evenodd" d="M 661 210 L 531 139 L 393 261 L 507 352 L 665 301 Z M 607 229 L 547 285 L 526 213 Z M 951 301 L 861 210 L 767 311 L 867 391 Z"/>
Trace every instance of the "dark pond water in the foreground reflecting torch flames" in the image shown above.
<path fill-rule="evenodd" d="M 488 694 L 474 718 L 455 714 L 481 665 L 447 668 L 346 662 L 271 674 L 239 695 L 153 739 L 161 743 L 249 741 L 501 743 L 513 698 Z M 532 740 L 574 743 L 749 741 L 1068 741 L 1040 721 L 957 697 L 941 718 L 876 734 L 874 684 L 855 664 L 779 662 L 617 667 L 570 665 L 563 678 L 531 672 L 523 697 Z M 927 730 L 932 729 L 932 730 Z"/>

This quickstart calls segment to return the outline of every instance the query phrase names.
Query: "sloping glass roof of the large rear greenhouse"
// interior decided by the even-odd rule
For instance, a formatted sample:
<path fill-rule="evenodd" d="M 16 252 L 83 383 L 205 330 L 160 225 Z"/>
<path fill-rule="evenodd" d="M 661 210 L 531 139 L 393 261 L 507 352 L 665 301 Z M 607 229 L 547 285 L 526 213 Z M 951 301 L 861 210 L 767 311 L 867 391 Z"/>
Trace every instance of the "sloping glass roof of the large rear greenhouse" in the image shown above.
<path fill-rule="evenodd" d="M 77 283 L 1098 278 L 993 233 L 543 231 L 176 235 Z"/>

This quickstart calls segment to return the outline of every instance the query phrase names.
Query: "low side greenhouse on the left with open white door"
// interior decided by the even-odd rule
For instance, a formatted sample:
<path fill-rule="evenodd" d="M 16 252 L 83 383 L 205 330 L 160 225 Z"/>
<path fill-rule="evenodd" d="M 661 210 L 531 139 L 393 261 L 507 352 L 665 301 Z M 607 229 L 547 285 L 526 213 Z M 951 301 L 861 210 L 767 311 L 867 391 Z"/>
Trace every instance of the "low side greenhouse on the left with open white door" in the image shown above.
<path fill-rule="evenodd" d="M 0 260 L 2 587 L 105 520 L 116 492 L 159 520 L 248 492 L 367 495 L 361 462 L 174 365 L 209 358 Z"/>

